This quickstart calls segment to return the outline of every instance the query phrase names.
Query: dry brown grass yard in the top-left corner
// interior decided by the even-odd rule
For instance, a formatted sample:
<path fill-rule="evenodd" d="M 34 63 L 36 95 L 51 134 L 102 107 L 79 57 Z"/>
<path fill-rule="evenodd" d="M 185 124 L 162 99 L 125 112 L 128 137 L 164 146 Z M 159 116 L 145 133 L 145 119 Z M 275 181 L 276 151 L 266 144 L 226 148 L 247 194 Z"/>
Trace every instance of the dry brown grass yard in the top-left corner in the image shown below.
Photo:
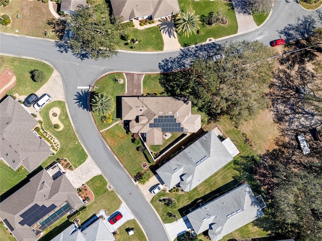
<path fill-rule="evenodd" d="M 46 30 L 53 30 L 47 22 L 54 17 L 49 11 L 48 3 L 41 1 L 11 0 L 7 7 L 1 7 L 1 13 L 11 17 L 10 26 L 0 25 L 0 32 L 44 38 Z M 17 18 L 21 15 L 21 19 Z M 57 39 L 53 34 L 51 39 Z"/>

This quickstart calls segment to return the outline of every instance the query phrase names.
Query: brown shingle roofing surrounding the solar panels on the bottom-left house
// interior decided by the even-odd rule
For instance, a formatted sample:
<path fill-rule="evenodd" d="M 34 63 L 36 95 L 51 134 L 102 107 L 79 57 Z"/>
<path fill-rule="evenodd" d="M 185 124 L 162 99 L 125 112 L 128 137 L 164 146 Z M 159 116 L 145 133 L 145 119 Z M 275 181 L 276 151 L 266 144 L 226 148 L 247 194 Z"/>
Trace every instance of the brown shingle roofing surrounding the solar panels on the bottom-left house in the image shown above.
<path fill-rule="evenodd" d="M 53 180 L 46 170 L 42 170 L 26 185 L 0 203 L 0 218 L 7 219 L 18 241 L 36 240 L 36 234 L 30 224 L 22 222 L 24 218 L 21 215 L 34 205 L 49 207 L 54 204 L 58 207 L 65 201 L 68 201 L 73 209 L 83 205 L 65 175 Z"/>

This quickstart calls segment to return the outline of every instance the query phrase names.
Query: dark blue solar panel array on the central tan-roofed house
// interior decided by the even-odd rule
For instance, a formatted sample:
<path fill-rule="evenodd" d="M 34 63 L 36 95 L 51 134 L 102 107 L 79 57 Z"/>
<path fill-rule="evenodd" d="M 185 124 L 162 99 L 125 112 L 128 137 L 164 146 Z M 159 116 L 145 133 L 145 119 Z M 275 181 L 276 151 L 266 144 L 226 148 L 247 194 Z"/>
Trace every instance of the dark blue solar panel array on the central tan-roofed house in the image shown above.
<path fill-rule="evenodd" d="M 174 115 L 158 115 L 154 123 L 149 124 L 149 128 L 161 128 L 162 132 L 183 132 L 181 123 L 177 123 Z"/>

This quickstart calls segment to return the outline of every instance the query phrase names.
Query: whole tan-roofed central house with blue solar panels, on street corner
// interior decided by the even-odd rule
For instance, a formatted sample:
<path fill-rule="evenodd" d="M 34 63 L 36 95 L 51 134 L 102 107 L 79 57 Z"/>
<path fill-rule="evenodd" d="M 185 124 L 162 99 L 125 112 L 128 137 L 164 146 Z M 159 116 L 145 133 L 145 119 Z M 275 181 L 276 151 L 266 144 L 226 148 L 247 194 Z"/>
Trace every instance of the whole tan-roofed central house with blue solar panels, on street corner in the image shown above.
<path fill-rule="evenodd" d="M 130 132 L 145 134 L 147 145 L 162 145 L 163 133 L 194 133 L 200 114 L 191 114 L 191 102 L 176 97 L 122 97 L 122 119 Z"/>

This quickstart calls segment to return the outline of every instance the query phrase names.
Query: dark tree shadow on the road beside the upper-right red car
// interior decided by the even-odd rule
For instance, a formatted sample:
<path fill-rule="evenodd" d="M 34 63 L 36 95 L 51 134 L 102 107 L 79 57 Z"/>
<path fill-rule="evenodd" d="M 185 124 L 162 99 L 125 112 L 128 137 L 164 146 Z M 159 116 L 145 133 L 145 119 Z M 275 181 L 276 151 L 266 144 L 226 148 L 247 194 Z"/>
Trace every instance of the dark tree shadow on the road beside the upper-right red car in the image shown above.
<path fill-rule="evenodd" d="M 298 17 L 295 24 L 288 24 L 284 29 L 278 30 L 280 36 L 284 36 L 286 42 L 306 39 L 314 35 L 316 20 L 313 15 Z"/>

